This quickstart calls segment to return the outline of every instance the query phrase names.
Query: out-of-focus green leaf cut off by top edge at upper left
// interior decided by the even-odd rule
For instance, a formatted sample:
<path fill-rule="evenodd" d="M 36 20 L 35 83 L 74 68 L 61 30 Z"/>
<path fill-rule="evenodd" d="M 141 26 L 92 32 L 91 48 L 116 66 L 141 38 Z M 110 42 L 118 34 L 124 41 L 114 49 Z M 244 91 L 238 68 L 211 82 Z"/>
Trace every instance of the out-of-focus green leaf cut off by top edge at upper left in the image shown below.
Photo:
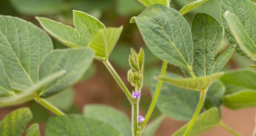
<path fill-rule="evenodd" d="M 63 0 L 10 0 L 13 8 L 26 15 L 53 15 L 69 9 Z"/>

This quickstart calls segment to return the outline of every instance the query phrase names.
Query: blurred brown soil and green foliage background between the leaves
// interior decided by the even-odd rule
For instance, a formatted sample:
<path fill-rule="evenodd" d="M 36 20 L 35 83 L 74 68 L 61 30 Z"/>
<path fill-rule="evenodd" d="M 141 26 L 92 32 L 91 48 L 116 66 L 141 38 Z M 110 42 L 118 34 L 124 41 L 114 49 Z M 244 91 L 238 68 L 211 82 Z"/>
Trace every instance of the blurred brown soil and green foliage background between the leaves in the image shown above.
<path fill-rule="evenodd" d="M 181 9 L 184 5 L 193 2 L 193 0 L 172 0 L 170 6 L 176 10 Z M 128 88 L 132 89 L 126 80 L 126 73 L 129 69 L 128 55 L 130 48 L 138 51 L 140 47 L 145 50 L 146 62 L 144 71 L 144 87 L 142 90 L 142 98 L 140 103 L 140 114 L 145 115 L 148 105 L 151 101 L 152 88 L 152 73 L 160 71 L 161 61 L 156 58 L 145 46 L 138 28 L 135 24 L 129 23 L 134 15 L 141 13 L 145 7 L 137 0 L 0 0 L 0 14 L 11 15 L 23 18 L 33 24 L 38 25 L 35 16 L 44 16 L 62 22 L 67 25 L 73 25 L 72 10 L 81 10 L 98 18 L 105 26 L 124 26 L 123 33 L 110 55 L 110 62 L 120 74 Z M 200 7 L 192 10 L 184 15 L 188 23 L 191 24 L 196 13 L 203 12 L 212 15 L 219 22 L 220 17 L 220 0 L 209 0 Z M 54 40 L 54 48 L 67 48 L 58 41 Z M 219 53 L 228 48 L 228 41 L 223 38 L 219 48 Z M 234 53 L 227 65 L 223 68 L 224 71 L 247 68 L 252 65 L 253 61 L 245 59 Z M 177 74 L 182 74 L 182 71 L 172 65 L 168 65 L 168 71 Z M 75 84 L 61 93 L 47 98 L 48 101 L 62 109 L 66 113 L 83 113 L 83 107 L 90 103 L 101 103 L 111 105 L 120 109 L 130 116 L 130 104 L 125 95 L 115 83 L 114 79 L 108 73 L 102 63 L 95 60 L 90 69 L 84 74 L 79 83 Z M 41 133 L 44 134 L 45 123 L 47 118 L 53 116 L 42 106 L 31 101 L 20 106 L 28 106 L 33 112 L 33 122 L 40 123 Z M 0 120 L 10 113 L 15 107 L 7 107 L 0 109 Z M 241 133 L 242 136 L 251 136 L 255 124 L 255 108 L 247 108 L 243 110 L 232 111 L 222 107 L 223 121 Z M 155 108 L 151 119 L 156 118 L 161 113 Z M 33 123 L 32 122 L 32 123 Z M 156 136 L 170 136 L 177 131 L 185 121 L 178 121 L 172 118 L 166 118 L 155 133 Z M 223 128 L 216 127 L 208 132 L 202 133 L 201 136 L 232 136 Z"/>

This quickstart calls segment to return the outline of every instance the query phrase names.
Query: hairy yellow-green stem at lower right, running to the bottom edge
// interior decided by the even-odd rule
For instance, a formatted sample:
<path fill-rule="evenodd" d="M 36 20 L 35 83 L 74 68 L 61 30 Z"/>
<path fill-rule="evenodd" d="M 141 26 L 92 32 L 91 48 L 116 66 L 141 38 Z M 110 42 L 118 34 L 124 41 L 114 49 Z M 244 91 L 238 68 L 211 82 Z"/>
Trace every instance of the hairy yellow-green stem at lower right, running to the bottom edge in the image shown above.
<path fill-rule="evenodd" d="M 208 88 L 207 88 L 208 89 Z M 187 129 L 185 131 L 185 133 L 183 134 L 183 136 L 188 136 L 189 132 L 191 131 L 195 121 L 197 120 L 197 117 L 201 111 L 201 108 L 204 104 L 204 101 L 205 101 L 205 96 L 206 96 L 206 93 L 207 93 L 207 89 L 205 89 L 204 91 L 201 91 L 200 93 L 200 100 L 199 100 L 199 103 L 197 105 L 197 109 L 191 119 L 191 121 L 189 122 L 188 126 L 187 126 Z"/>

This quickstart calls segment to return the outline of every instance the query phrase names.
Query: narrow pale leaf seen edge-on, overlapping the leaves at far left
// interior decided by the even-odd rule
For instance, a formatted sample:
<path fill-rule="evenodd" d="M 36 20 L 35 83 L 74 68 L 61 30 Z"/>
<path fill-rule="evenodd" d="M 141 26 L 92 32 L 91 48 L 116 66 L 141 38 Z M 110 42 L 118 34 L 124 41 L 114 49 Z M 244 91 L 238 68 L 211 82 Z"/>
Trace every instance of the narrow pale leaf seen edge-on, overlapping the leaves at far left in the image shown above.
<path fill-rule="evenodd" d="M 38 97 L 38 93 L 41 91 L 41 89 L 46 86 L 48 83 L 54 81 L 56 78 L 59 78 L 63 76 L 66 73 L 66 71 L 58 71 L 56 73 L 52 73 L 50 76 L 42 79 L 36 85 L 31 86 L 26 91 L 22 93 L 18 93 L 15 96 L 9 96 L 9 97 L 1 97 L 0 98 L 0 107 L 4 106 L 13 106 L 20 103 L 24 103 L 27 101 L 31 101 L 34 98 Z"/>

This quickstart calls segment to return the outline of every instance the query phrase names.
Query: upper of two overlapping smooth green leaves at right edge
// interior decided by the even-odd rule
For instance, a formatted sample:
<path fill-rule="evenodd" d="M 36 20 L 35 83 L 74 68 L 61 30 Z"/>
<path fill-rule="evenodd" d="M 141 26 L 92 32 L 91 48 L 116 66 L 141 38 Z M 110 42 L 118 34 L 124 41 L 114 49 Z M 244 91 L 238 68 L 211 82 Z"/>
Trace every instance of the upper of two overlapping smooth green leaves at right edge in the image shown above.
<path fill-rule="evenodd" d="M 220 80 L 226 86 L 225 94 L 235 93 L 240 90 L 256 90 L 256 73 L 248 70 L 238 70 L 225 73 Z"/>

